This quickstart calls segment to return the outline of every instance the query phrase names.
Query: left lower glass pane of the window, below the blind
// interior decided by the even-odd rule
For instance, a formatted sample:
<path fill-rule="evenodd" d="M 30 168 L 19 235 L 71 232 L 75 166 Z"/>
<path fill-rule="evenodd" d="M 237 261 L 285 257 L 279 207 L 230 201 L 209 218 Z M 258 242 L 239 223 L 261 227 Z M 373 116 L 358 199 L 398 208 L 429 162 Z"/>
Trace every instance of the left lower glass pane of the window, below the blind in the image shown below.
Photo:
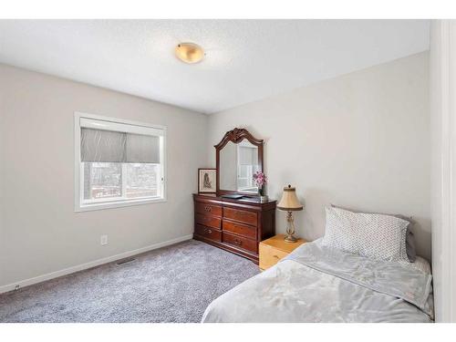
<path fill-rule="evenodd" d="M 121 196 L 122 164 L 119 162 L 84 162 L 84 200 Z"/>

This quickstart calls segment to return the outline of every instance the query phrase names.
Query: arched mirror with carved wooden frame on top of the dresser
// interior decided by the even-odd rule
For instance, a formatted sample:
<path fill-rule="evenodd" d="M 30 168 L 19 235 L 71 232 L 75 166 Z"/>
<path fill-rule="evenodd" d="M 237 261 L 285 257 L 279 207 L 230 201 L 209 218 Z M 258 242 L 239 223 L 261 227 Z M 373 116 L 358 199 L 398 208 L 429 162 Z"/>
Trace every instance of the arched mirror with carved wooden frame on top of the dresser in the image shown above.
<path fill-rule="evenodd" d="M 234 129 L 226 132 L 214 147 L 217 195 L 256 195 L 254 172 L 263 171 L 263 140 L 254 138 L 248 130 Z"/>

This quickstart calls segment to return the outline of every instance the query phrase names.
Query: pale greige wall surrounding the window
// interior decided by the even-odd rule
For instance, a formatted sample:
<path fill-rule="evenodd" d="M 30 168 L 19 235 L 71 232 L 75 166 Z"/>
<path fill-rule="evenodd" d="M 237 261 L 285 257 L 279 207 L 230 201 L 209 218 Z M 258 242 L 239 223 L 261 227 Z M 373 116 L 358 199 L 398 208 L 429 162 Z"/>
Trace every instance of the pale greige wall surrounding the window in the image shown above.
<path fill-rule="evenodd" d="M 167 126 L 168 202 L 75 213 L 74 111 Z M 192 234 L 204 115 L 2 65 L 0 114 L 0 289 Z"/>

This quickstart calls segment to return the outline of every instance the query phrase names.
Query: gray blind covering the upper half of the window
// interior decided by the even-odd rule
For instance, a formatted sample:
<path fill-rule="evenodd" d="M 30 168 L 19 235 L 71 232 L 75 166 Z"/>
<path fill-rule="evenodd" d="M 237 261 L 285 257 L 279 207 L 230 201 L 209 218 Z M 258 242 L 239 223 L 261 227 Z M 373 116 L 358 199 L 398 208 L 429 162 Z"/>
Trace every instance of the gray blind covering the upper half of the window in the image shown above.
<path fill-rule="evenodd" d="M 82 123 L 81 119 L 81 126 Z M 85 126 L 88 127 L 81 127 L 81 161 L 161 162 L 159 136 L 106 130 L 105 128 L 97 130 L 91 128 L 95 126 L 94 122 Z M 121 129 L 121 127 L 119 128 Z M 144 128 L 140 129 L 144 130 Z M 152 130 L 155 131 L 155 129 Z"/>

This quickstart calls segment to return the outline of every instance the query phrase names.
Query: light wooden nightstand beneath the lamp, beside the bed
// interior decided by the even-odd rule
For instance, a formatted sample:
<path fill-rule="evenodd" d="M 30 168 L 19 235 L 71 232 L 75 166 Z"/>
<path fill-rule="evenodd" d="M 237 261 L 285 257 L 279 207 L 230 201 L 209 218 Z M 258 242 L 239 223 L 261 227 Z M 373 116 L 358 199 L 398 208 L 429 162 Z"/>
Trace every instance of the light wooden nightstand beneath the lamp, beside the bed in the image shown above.
<path fill-rule="evenodd" d="M 304 239 L 298 239 L 295 244 L 285 243 L 284 238 L 284 234 L 278 234 L 260 243 L 260 268 L 262 270 L 274 266 L 301 244 L 306 244 Z"/>

